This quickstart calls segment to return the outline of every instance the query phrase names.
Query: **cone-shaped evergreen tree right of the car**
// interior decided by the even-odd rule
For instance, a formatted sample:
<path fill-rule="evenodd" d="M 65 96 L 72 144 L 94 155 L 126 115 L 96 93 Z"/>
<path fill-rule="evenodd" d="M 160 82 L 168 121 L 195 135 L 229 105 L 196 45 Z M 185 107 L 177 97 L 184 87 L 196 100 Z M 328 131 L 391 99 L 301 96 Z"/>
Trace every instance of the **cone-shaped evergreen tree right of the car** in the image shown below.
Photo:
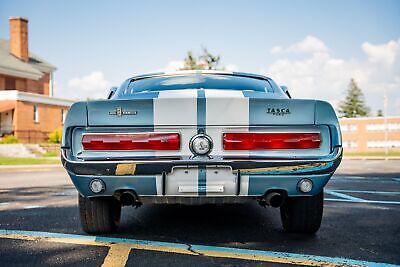
<path fill-rule="evenodd" d="M 354 79 L 350 80 L 346 99 L 340 102 L 339 113 L 346 118 L 366 117 L 369 114 L 364 95 Z"/>

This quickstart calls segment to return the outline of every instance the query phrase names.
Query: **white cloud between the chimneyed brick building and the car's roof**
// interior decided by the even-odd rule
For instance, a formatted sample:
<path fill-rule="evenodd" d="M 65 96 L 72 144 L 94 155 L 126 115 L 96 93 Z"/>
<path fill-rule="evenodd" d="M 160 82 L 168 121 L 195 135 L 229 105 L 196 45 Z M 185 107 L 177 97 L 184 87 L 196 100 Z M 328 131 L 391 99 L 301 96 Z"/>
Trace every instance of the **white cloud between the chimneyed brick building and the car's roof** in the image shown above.
<path fill-rule="evenodd" d="M 105 98 L 110 89 L 110 82 L 101 71 L 75 77 L 68 82 L 68 96 L 74 99 Z M 68 97 L 67 96 L 67 97 Z"/>

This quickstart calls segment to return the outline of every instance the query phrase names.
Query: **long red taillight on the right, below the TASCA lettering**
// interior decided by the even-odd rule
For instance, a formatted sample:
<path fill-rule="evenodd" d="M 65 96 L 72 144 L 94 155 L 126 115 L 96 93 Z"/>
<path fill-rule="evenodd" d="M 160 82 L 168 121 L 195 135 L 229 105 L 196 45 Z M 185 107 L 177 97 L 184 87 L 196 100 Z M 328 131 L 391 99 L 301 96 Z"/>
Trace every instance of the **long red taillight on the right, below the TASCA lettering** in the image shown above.
<path fill-rule="evenodd" d="M 319 133 L 224 133 L 225 150 L 319 148 Z"/>

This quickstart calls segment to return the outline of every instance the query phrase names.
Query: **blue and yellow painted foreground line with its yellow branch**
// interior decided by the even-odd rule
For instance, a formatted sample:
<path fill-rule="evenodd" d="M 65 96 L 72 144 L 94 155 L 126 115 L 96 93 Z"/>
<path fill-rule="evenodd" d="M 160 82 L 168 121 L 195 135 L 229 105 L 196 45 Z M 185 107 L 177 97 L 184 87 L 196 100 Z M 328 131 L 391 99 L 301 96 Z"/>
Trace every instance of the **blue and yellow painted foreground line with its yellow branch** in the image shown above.
<path fill-rule="evenodd" d="M 262 251 L 219 246 L 190 245 L 183 243 L 159 242 L 150 240 L 126 239 L 115 237 L 86 236 L 77 234 L 62 234 L 23 230 L 0 229 L 0 238 L 59 242 L 79 245 L 107 246 L 109 252 L 103 262 L 104 267 L 125 266 L 131 250 L 153 250 L 161 252 L 189 254 L 195 256 L 231 258 L 274 262 L 282 264 L 306 266 L 370 266 L 370 267 L 400 267 L 400 265 L 353 260 L 346 258 L 296 254 L 277 251 Z"/>

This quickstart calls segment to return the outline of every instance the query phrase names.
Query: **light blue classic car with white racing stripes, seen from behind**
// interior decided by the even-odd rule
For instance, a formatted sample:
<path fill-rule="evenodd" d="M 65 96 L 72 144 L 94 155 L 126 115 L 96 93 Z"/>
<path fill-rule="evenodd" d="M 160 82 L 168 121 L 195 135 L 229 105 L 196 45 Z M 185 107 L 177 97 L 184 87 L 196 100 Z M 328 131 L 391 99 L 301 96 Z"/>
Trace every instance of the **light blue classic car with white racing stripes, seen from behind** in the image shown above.
<path fill-rule="evenodd" d="M 251 201 L 280 207 L 286 231 L 314 233 L 341 157 L 329 103 L 239 72 L 129 78 L 73 104 L 62 140 L 88 233 L 115 231 L 125 205 Z"/>

